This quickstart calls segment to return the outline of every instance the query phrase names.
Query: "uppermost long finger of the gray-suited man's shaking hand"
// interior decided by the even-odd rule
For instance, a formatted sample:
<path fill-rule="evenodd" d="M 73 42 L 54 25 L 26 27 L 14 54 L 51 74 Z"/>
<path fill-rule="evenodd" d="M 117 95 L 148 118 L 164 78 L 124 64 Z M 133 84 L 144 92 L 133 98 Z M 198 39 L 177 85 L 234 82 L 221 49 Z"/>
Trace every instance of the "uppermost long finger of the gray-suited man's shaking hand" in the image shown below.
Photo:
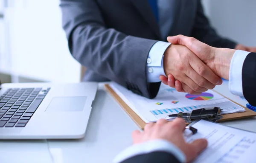
<path fill-rule="evenodd" d="M 212 70 L 207 65 L 205 65 L 204 62 L 202 62 L 197 56 L 191 56 L 191 58 L 189 59 L 189 64 L 200 76 L 204 77 L 212 84 L 222 84 L 221 78 L 213 73 Z"/>

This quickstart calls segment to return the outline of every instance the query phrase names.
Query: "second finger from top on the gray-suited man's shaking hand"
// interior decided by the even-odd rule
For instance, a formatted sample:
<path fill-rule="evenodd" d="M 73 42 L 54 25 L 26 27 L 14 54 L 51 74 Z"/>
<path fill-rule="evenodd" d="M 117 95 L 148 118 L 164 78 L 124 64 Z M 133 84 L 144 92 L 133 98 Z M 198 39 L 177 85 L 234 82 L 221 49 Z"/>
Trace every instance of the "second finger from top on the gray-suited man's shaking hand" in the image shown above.
<path fill-rule="evenodd" d="M 206 65 L 205 65 L 206 66 Z M 206 66 L 207 67 L 207 66 Z M 212 71 L 212 70 L 210 70 Z M 190 79 L 192 79 L 195 84 L 197 84 L 197 86 L 195 87 L 203 87 L 205 88 L 204 90 L 195 90 L 196 92 L 204 92 L 207 91 L 207 89 L 212 90 L 215 87 L 215 84 L 212 84 L 211 82 L 209 82 L 207 79 L 205 79 L 204 77 L 200 76 L 194 69 L 189 69 L 189 71 L 186 71 L 186 76 L 188 76 Z"/>

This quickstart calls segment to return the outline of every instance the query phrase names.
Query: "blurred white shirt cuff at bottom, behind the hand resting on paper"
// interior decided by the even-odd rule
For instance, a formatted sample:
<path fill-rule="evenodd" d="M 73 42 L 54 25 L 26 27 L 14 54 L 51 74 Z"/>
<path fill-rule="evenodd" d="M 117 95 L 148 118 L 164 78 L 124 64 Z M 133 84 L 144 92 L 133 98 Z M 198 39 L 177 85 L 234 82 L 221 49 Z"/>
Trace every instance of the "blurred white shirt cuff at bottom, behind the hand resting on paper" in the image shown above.
<path fill-rule="evenodd" d="M 128 147 L 114 158 L 113 163 L 120 163 L 128 158 L 156 151 L 169 152 L 181 163 L 186 161 L 186 157 L 183 152 L 172 143 L 165 140 L 154 140 Z"/>

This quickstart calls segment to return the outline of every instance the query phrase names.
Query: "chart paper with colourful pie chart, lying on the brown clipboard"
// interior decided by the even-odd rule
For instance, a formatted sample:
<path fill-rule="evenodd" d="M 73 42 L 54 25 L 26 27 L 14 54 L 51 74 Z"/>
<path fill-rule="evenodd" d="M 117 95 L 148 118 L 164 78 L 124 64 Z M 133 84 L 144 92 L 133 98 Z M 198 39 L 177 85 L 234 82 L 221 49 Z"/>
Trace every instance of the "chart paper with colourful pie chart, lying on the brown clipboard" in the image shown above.
<path fill-rule="evenodd" d="M 168 115 L 189 112 L 204 107 L 220 107 L 221 114 L 244 112 L 245 109 L 212 90 L 201 95 L 177 92 L 174 88 L 161 84 L 157 97 L 148 99 L 132 93 L 119 84 L 111 83 L 111 88 L 136 112 L 146 123 L 158 119 L 169 119 Z"/>

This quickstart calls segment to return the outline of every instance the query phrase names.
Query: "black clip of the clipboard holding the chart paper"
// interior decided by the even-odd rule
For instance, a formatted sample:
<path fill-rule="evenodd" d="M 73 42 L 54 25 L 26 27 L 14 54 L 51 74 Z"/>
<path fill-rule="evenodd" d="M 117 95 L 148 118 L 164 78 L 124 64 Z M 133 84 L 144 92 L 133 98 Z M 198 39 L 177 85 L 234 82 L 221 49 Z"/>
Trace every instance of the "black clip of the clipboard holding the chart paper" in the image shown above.
<path fill-rule="evenodd" d="M 211 122 L 216 122 L 219 119 L 223 118 L 221 116 L 221 108 L 213 107 L 213 108 L 201 108 L 197 110 L 192 110 L 190 112 L 179 112 L 177 114 L 169 115 L 170 118 L 180 117 L 183 118 L 186 123 L 191 123 L 192 121 L 198 119 L 204 119 Z"/>

